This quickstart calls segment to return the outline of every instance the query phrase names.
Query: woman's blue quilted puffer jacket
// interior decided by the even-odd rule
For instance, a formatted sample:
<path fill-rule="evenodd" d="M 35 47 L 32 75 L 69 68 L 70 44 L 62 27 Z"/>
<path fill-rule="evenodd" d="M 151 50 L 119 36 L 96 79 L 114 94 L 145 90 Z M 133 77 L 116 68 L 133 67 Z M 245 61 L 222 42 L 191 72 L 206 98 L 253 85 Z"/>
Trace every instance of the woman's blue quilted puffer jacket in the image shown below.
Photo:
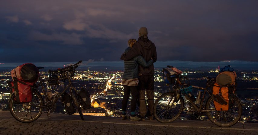
<path fill-rule="evenodd" d="M 128 53 L 131 50 L 130 47 L 126 48 L 124 53 Z M 150 59 L 148 62 L 145 61 L 145 59 L 141 56 L 135 56 L 133 59 L 130 59 L 128 61 L 124 61 L 124 74 L 123 79 L 135 79 L 138 78 L 138 69 L 139 65 L 143 67 L 149 67 L 150 65 L 153 65 L 153 60 Z"/>

